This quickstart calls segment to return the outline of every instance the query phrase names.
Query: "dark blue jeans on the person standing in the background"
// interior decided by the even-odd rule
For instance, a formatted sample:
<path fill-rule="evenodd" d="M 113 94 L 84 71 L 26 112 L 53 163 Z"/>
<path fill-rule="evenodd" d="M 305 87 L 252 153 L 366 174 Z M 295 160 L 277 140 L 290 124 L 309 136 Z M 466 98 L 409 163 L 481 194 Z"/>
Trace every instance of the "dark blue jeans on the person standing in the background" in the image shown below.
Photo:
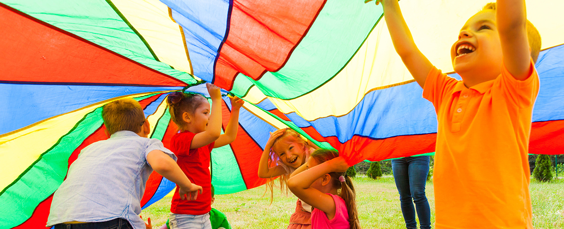
<path fill-rule="evenodd" d="M 408 229 L 417 229 L 415 210 L 421 229 L 431 228 L 431 209 L 425 196 L 429 156 L 404 157 L 391 161 L 395 186 L 398 187 L 403 219 Z M 415 202 L 415 209 L 413 209 Z"/>

